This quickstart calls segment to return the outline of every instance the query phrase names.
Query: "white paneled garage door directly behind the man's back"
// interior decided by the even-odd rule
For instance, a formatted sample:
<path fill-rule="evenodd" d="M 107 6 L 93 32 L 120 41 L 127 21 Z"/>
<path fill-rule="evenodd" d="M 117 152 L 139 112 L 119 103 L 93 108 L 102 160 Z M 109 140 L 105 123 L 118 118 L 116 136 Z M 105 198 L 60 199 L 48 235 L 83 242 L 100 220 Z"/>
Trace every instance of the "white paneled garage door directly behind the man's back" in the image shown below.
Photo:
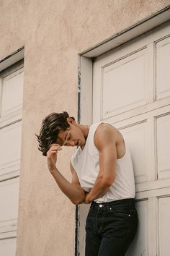
<path fill-rule="evenodd" d="M 127 140 L 135 169 L 138 234 L 127 256 L 169 256 L 170 23 L 94 61 L 93 122 Z"/>

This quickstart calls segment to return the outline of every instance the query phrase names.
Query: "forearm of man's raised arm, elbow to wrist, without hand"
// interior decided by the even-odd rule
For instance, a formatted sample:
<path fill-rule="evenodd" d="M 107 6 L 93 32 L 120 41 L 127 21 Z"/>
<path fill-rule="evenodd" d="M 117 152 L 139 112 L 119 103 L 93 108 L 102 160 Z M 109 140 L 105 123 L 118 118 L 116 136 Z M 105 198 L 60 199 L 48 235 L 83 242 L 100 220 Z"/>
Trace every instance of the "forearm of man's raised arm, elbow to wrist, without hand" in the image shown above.
<path fill-rule="evenodd" d="M 68 182 L 68 180 L 58 171 L 58 168 L 50 171 L 53 175 L 55 182 L 57 182 L 58 187 L 61 191 L 73 202 L 73 204 L 78 205 L 84 202 L 85 192 L 81 187 L 76 187 L 75 185 Z"/>

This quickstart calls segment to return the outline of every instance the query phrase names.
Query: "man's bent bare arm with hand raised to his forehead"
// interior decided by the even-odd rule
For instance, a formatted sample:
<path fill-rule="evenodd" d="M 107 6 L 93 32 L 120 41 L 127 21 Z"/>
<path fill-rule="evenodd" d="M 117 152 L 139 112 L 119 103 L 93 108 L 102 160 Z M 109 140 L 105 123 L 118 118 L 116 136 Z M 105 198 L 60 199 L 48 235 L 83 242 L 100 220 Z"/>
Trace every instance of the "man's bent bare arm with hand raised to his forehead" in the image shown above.
<path fill-rule="evenodd" d="M 48 159 L 48 168 L 50 174 L 53 175 L 55 182 L 60 187 L 61 191 L 73 202 L 73 204 L 78 205 L 81 202 L 84 202 L 85 192 L 81 189 L 79 184 L 79 179 L 77 177 L 76 171 L 73 170 L 71 165 L 71 173 L 73 174 L 72 182 L 68 180 L 58 171 L 58 168 L 55 166 L 57 161 L 58 150 L 61 150 L 60 145 L 53 144 L 48 150 L 47 159 Z"/>

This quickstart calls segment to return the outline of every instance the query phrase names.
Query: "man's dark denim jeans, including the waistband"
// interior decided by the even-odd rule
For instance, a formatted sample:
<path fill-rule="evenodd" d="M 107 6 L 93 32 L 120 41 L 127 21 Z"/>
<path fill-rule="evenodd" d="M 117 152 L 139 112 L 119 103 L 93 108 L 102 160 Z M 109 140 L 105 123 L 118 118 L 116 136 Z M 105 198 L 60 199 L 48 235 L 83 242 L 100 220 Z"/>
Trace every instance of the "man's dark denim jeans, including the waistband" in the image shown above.
<path fill-rule="evenodd" d="M 135 237 L 138 213 L 134 199 L 91 202 L 86 218 L 86 256 L 123 256 Z"/>

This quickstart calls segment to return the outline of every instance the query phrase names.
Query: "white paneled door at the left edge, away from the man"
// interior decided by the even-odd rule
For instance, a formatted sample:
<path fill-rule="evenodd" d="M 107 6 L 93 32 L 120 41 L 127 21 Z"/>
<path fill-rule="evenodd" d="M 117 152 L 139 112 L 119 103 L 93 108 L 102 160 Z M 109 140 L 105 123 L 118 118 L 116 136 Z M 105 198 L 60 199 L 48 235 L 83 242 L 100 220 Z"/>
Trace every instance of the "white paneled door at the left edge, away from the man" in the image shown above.
<path fill-rule="evenodd" d="M 23 65 L 22 65 L 23 66 Z M 16 252 L 23 68 L 0 73 L 0 255 Z"/>

